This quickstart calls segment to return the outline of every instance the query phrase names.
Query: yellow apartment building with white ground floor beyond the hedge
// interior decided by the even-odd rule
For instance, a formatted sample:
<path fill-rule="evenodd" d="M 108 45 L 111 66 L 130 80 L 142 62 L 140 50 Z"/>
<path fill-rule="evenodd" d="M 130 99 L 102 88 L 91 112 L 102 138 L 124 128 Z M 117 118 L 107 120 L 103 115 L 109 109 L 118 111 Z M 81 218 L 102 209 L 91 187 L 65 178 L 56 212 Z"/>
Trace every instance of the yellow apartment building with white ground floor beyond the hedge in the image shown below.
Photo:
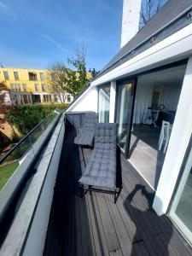
<path fill-rule="evenodd" d="M 11 105 L 72 102 L 72 95 L 58 96 L 49 90 L 46 84 L 48 75 L 51 75 L 49 70 L 44 69 L 0 67 L 0 82 L 9 90 L 7 101 Z"/>

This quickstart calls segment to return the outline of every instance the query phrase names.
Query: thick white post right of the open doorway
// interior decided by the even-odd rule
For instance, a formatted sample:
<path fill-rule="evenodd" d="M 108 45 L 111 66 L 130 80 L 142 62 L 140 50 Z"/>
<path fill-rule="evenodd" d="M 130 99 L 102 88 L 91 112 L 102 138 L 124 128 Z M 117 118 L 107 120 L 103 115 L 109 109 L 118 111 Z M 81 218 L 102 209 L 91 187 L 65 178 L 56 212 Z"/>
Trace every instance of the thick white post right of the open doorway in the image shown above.
<path fill-rule="evenodd" d="M 183 157 L 192 132 L 192 57 L 190 57 L 183 87 L 177 105 L 172 135 L 166 151 L 166 159 L 160 174 L 160 181 L 154 197 L 154 210 L 164 214 L 169 207 Z"/>

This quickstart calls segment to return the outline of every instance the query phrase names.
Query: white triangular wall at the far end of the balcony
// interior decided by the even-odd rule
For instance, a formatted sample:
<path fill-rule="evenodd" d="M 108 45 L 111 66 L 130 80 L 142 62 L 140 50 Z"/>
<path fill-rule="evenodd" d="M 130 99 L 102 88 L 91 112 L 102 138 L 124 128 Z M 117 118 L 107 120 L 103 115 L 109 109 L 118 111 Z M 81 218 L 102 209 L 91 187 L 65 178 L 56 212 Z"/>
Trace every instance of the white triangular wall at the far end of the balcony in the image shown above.
<path fill-rule="evenodd" d="M 96 87 L 85 90 L 82 96 L 72 104 L 68 111 L 94 111 L 97 112 L 98 91 Z"/>

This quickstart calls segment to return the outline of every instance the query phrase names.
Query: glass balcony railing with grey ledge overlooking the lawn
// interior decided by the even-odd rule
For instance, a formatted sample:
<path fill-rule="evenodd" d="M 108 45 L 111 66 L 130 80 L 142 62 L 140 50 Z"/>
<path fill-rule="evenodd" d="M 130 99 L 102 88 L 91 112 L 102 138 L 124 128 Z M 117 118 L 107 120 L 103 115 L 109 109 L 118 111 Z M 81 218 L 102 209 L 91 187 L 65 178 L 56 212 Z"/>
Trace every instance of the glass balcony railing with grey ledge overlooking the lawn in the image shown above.
<path fill-rule="evenodd" d="M 53 111 L 0 159 L 0 221 L 41 154 L 61 113 Z"/>

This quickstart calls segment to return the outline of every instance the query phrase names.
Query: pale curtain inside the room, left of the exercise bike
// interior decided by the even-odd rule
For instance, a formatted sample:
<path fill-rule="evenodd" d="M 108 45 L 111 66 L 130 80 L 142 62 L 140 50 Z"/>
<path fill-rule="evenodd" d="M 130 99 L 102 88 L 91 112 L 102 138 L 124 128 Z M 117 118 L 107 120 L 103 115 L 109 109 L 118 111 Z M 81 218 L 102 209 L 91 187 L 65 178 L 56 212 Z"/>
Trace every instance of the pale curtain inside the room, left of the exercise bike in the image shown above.
<path fill-rule="evenodd" d="M 154 86 L 137 84 L 137 94 L 133 113 L 133 124 L 141 124 L 149 116 L 148 107 L 151 107 Z"/>

